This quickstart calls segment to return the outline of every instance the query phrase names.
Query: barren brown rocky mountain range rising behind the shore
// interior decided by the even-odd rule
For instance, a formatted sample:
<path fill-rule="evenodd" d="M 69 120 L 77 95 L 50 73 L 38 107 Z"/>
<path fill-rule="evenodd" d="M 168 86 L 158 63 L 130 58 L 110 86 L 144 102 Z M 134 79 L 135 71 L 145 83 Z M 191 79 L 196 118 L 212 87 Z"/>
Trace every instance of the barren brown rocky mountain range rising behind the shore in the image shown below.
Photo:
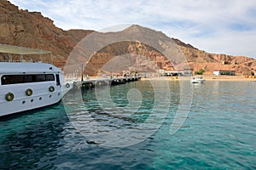
<path fill-rule="evenodd" d="M 0 1 L 0 43 L 52 51 L 54 65 L 59 67 L 63 68 L 68 62 L 77 62 L 81 65 L 86 52 L 83 47 L 79 48 L 78 43 L 84 37 L 94 34 L 97 35 L 97 38 L 124 38 L 120 39 L 122 41 L 114 42 L 113 40 L 113 43 L 105 44 L 105 46 L 100 46 L 101 43 L 104 43 L 100 42 L 101 39 L 97 39 L 99 41 L 96 42 L 96 46 L 102 48 L 97 49 L 90 56 L 90 62 L 85 68 L 89 75 L 96 75 L 100 69 L 109 72 L 113 65 L 119 65 L 116 66 L 116 68 L 119 67 L 116 71 L 126 69 L 137 69 L 137 71 L 177 70 L 177 65 L 184 61 L 184 59 L 181 61 L 180 56 L 185 57 L 185 61 L 194 71 L 202 68 L 207 74 L 212 74 L 213 70 L 222 69 L 235 70 L 236 74 L 250 75 L 256 70 L 256 60 L 253 58 L 209 54 L 176 38 L 167 37 L 160 31 L 141 26 L 131 26 L 116 33 L 90 30 L 63 31 L 54 25 L 53 20 L 44 17 L 39 12 L 19 9 L 7 0 Z M 166 48 L 170 48 L 171 42 L 175 42 L 176 47 L 172 47 L 172 52 L 175 53 L 170 54 L 172 55 L 170 60 L 168 58 L 170 56 L 165 55 L 168 51 Z M 87 44 L 87 46 L 90 45 L 90 43 Z M 76 50 L 79 54 L 78 59 L 68 60 L 68 57 Z M 122 65 L 119 64 L 119 60 L 122 61 Z M 135 66 L 136 68 L 134 68 Z"/>

